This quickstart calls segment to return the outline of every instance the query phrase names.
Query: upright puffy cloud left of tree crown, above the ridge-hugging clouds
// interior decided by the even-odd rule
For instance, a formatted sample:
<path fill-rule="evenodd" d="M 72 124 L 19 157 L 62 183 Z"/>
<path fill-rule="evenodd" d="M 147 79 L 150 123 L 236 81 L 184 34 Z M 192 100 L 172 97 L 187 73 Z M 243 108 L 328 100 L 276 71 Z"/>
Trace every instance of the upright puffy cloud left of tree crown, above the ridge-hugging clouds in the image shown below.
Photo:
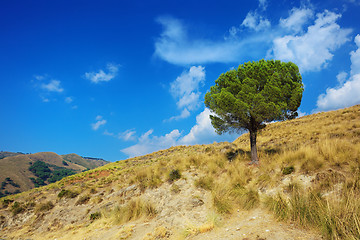
<path fill-rule="evenodd" d="M 177 107 L 183 109 L 181 115 L 172 117 L 170 120 L 186 118 L 190 116 L 190 111 L 199 107 L 201 103 L 199 87 L 204 84 L 204 81 L 205 68 L 193 66 L 170 84 L 170 93 L 177 100 Z"/>

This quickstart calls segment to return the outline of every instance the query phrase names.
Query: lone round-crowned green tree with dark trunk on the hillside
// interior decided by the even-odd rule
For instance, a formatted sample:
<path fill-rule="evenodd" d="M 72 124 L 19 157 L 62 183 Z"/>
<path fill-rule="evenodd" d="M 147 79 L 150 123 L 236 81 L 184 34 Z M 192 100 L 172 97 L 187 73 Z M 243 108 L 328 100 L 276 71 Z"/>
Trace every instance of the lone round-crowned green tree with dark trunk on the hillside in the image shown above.
<path fill-rule="evenodd" d="M 257 131 L 264 123 L 295 118 L 303 91 L 294 63 L 260 60 L 221 74 L 205 95 L 205 105 L 214 113 L 210 118 L 218 134 L 249 130 L 251 160 L 257 163 Z"/>

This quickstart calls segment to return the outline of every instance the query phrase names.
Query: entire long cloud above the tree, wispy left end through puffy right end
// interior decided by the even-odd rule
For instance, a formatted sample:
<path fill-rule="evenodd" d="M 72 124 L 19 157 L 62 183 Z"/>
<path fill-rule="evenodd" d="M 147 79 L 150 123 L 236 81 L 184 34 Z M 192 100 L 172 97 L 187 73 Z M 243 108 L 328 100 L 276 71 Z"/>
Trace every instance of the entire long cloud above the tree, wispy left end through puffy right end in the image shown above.
<path fill-rule="evenodd" d="M 247 57 L 266 56 L 292 61 L 301 72 L 320 71 L 349 41 L 352 31 L 337 23 L 341 14 L 328 10 L 316 14 L 310 6 L 291 9 L 274 26 L 260 13 L 258 9 L 248 12 L 240 26 L 230 27 L 222 40 L 196 38 L 180 20 L 158 18 L 163 31 L 155 41 L 155 55 L 176 65 L 238 63 Z"/>

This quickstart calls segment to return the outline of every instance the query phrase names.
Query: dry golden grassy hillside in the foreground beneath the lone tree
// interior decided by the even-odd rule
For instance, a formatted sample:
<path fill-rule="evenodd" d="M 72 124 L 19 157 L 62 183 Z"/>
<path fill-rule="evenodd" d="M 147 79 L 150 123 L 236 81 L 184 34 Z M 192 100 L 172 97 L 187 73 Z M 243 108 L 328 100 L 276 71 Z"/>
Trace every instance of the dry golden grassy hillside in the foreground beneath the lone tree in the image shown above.
<path fill-rule="evenodd" d="M 1 200 L 3 239 L 360 239 L 360 105 L 178 146 Z"/>

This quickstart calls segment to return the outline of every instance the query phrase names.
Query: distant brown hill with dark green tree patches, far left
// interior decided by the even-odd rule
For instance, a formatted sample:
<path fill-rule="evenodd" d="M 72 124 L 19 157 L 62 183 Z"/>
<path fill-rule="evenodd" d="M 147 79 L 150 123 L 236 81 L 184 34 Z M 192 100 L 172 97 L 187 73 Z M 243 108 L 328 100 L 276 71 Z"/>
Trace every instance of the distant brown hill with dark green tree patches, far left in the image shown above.
<path fill-rule="evenodd" d="M 107 163 L 105 160 L 85 159 L 77 154 L 0 152 L 0 197 L 43 186 Z"/>

